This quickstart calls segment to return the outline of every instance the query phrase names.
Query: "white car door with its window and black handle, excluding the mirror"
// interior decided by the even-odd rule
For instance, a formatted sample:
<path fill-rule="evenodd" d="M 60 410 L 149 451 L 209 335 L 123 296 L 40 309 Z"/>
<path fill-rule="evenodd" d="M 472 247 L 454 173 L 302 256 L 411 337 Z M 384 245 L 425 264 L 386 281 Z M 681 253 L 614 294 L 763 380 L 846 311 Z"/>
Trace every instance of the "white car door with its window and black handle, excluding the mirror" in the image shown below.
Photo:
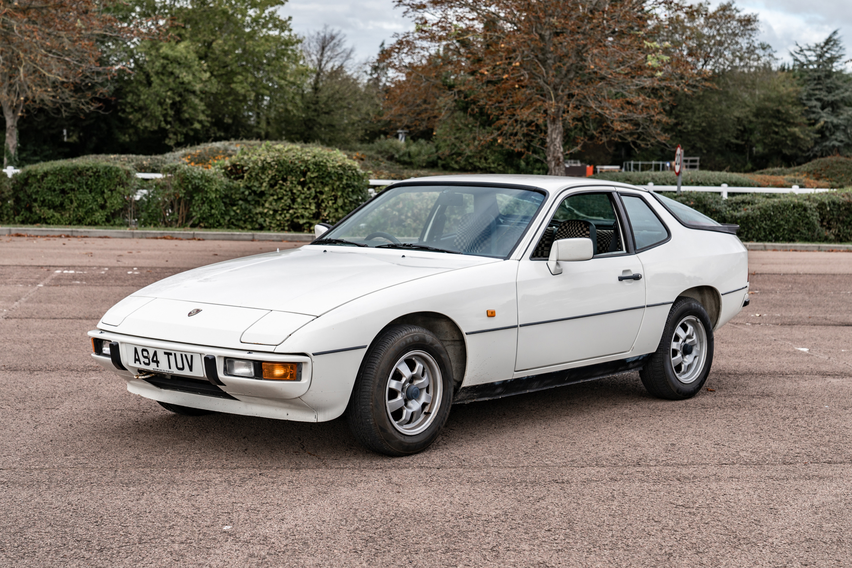
<path fill-rule="evenodd" d="M 515 371 L 630 351 L 642 324 L 645 282 L 626 227 L 612 190 L 562 199 L 533 254 L 519 266 Z M 562 272 L 550 273 L 553 240 L 580 236 L 593 239 L 595 255 L 561 262 Z"/>

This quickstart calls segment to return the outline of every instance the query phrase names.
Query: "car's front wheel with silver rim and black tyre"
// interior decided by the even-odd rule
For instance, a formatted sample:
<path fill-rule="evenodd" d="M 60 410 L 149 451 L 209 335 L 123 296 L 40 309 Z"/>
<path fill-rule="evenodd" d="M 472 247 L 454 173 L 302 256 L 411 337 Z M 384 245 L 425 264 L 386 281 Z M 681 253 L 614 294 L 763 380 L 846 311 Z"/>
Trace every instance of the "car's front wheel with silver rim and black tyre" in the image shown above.
<path fill-rule="evenodd" d="M 425 450 L 452 404 L 452 364 L 432 332 L 417 325 L 385 330 L 366 354 L 349 400 L 349 427 L 387 456 Z"/>

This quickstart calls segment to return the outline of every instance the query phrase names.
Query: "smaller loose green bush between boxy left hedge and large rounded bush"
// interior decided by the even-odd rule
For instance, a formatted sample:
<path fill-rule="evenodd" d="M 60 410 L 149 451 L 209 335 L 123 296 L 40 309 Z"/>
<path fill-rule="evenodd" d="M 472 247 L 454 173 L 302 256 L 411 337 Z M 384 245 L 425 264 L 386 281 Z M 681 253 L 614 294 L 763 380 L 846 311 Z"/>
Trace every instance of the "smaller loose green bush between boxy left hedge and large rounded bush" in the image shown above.
<path fill-rule="evenodd" d="M 164 177 L 145 182 L 136 202 L 141 226 L 227 227 L 225 204 L 233 182 L 220 171 L 185 164 L 163 166 Z"/>

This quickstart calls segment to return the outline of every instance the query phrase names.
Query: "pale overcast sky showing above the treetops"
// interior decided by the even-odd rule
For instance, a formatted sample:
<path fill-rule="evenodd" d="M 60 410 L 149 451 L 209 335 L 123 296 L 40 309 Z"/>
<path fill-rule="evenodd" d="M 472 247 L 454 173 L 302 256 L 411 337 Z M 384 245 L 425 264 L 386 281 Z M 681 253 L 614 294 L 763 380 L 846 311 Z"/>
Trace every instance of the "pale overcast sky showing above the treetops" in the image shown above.
<path fill-rule="evenodd" d="M 762 39 L 782 60 L 790 59 L 796 42 L 815 43 L 838 28 L 852 57 L 852 0 L 740 0 L 737 5 L 759 14 Z M 301 35 L 324 25 L 343 31 L 358 60 L 375 57 L 382 41 L 392 43 L 395 32 L 412 28 L 393 0 L 290 0 L 284 14 L 292 16 L 293 30 Z"/>

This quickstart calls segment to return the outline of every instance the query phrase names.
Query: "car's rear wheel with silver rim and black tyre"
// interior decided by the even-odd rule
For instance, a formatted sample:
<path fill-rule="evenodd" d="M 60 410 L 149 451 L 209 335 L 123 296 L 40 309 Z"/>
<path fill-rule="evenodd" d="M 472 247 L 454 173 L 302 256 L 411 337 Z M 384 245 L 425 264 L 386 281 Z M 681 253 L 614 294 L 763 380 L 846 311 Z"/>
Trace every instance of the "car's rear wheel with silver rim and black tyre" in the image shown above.
<path fill-rule="evenodd" d="M 660 399 L 693 397 L 704 386 L 713 363 L 713 326 L 693 298 L 672 305 L 659 347 L 639 371 L 648 393 Z"/>

